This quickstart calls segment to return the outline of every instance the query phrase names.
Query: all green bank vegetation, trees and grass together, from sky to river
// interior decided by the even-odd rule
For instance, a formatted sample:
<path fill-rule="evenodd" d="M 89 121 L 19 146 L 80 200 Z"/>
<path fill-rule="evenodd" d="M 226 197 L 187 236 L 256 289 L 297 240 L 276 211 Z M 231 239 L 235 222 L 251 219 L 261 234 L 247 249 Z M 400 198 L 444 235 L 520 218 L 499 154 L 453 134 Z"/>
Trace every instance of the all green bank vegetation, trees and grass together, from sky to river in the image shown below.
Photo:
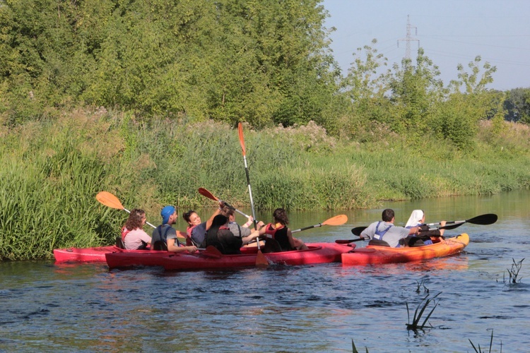
<path fill-rule="evenodd" d="M 110 244 L 110 191 L 158 219 L 205 187 L 257 208 L 352 209 L 530 185 L 530 90 L 481 57 L 445 85 L 377 41 L 348 73 L 319 1 L 0 4 L 0 259 Z"/>

